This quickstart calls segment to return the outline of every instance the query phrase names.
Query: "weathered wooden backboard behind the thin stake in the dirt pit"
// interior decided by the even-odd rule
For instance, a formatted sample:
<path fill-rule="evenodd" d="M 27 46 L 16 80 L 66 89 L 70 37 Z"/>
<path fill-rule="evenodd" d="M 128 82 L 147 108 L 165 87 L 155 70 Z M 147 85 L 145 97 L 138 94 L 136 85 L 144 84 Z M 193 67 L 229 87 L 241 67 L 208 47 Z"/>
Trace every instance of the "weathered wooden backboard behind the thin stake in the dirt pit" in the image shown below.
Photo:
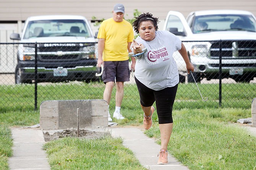
<path fill-rule="evenodd" d="M 40 105 L 40 127 L 43 130 L 76 128 L 78 116 L 79 127 L 108 127 L 107 108 L 105 100 L 47 100 Z"/>

